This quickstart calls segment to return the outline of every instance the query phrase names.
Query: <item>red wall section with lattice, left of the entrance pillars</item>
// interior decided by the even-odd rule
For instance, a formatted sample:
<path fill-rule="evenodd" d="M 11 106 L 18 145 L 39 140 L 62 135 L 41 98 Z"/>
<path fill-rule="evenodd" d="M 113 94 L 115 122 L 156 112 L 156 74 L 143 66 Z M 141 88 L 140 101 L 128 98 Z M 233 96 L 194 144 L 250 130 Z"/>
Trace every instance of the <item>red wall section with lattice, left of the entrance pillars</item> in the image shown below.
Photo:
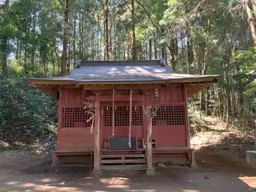
<path fill-rule="evenodd" d="M 84 114 L 81 89 L 63 89 L 59 100 L 58 149 L 93 149 L 90 117 Z"/>

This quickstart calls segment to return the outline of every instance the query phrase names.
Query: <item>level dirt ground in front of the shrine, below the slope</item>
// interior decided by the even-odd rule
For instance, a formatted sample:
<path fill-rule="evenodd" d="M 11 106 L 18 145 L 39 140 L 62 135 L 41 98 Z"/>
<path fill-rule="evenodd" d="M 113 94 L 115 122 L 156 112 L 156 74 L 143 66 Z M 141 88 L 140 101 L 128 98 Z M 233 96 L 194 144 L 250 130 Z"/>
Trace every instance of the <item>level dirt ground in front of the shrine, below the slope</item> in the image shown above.
<path fill-rule="evenodd" d="M 18 154 L 18 152 L 17 152 Z M 17 155 L 16 154 L 16 155 Z M 157 175 L 144 172 L 108 172 L 92 177 L 89 167 L 52 167 L 36 156 L 7 155 L 0 159 L 0 191 L 169 191 L 246 192 L 256 187 L 256 167 L 224 154 L 197 152 L 199 168 L 156 167 Z"/>

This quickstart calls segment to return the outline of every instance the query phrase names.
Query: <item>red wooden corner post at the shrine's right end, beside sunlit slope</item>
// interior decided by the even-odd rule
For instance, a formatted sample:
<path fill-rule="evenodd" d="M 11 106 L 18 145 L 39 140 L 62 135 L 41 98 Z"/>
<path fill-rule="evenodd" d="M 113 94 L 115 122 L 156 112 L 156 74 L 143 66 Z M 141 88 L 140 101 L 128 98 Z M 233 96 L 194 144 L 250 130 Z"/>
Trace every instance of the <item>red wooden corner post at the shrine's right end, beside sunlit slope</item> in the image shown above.
<path fill-rule="evenodd" d="M 185 126 L 186 126 L 186 139 L 187 139 L 187 147 L 190 147 L 190 130 L 189 130 L 189 119 L 188 119 L 188 110 L 187 110 L 187 93 L 186 93 L 186 87 L 184 85 L 183 87 L 183 100 L 184 100 L 184 111 L 185 111 Z M 197 163 L 195 161 L 195 152 L 194 150 L 191 150 L 190 153 L 190 166 L 191 167 L 197 167 Z"/>

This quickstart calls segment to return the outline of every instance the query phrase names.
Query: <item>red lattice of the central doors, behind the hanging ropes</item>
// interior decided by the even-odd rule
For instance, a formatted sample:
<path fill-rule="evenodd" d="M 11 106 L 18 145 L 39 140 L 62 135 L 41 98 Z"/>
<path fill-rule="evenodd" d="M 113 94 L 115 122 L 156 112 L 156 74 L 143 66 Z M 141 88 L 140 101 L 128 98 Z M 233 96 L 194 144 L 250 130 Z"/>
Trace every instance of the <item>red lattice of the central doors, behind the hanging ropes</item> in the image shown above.
<path fill-rule="evenodd" d="M 129 106 L 115 106 L 115 126 L 129 126 Z M 104 109 L 105 126 L 112 126 L 112 107 Z M 142 106 L 133 106 L 132 125 L 142 125 Z"/>

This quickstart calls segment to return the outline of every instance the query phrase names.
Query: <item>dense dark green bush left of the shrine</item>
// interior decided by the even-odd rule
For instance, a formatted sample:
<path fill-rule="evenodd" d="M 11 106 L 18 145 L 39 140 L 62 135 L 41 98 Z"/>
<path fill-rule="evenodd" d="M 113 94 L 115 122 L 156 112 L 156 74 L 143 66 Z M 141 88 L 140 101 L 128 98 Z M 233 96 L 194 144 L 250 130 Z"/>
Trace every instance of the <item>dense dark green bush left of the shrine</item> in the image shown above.
<path fill-rule="evenodd" d="M 0 81 L 0 138 L 29 142 L 46 131 L 56 131 L 56 100 L 28 88 L 14 70 Z"/>

